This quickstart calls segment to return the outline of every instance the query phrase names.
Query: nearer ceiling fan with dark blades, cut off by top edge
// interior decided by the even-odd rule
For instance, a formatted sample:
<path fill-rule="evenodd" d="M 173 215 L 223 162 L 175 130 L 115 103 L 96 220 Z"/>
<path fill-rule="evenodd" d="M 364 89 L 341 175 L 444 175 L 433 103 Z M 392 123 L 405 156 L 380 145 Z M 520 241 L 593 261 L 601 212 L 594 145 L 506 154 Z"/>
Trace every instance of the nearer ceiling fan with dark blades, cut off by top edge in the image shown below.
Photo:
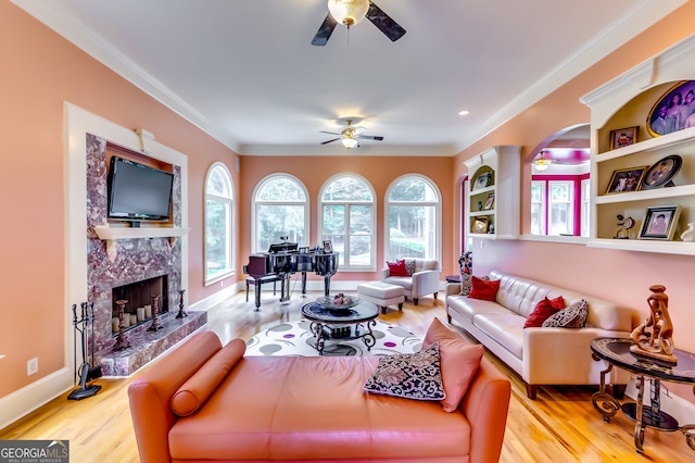
<path fill-rule="evenodd" d="M 354 26 L 365 16 L 391 41 L 396 41 L 405 34 L 405 29 L 399 23 L 370 0 L 328 0 L 328 14 L 316 32 L 312 45 L 325 46 L 338 23 L 343 24 L 350 30 L 350 26 Z"/>

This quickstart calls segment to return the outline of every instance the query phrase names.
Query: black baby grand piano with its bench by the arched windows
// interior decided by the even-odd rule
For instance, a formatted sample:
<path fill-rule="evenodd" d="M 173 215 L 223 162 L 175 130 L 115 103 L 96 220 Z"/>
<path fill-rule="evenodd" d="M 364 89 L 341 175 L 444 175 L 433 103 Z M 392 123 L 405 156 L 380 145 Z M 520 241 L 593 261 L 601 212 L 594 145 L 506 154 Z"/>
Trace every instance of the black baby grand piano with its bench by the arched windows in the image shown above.
<path fill-rule="evenodd" d="M 280 302 L 290 299 L 290 278 L 302 274 L 302 295 L 306 295 L 306 273 L 314 272 L 324 277 L 325 296 L 330 291 L 330 277 L 338 272 L 338 253 L 318 246 L 300 248 L 296 242 L 283 241 L 270 245 L 268 252 L 249 255 L 249 264 L 243 266 L 247 278 L 247 302 L 249 286 L 254 286 L 256 311 L 261 308 L 261 285 L 280 281 Z"/>

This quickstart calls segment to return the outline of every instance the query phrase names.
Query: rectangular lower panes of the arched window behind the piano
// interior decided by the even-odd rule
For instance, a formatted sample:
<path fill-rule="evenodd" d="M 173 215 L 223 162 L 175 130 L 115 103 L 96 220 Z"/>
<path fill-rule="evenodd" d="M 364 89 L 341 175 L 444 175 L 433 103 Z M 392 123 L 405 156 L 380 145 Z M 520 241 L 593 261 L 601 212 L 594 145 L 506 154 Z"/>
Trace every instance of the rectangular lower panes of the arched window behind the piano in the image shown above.
<path fill-rule="evenodd" d="M 304 241 L 304 205 L 258 204 L 256 208 L 258 250 L 270 249 L 274 242 L 280 242 L 281 236 L 291 242 Z"/>

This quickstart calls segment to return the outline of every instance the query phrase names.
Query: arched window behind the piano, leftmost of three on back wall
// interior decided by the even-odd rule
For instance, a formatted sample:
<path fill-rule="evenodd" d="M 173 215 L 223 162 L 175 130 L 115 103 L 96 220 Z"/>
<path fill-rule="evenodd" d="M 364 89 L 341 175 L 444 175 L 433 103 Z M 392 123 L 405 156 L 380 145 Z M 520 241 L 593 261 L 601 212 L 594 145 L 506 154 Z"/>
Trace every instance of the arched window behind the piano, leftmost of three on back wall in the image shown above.
<path fill-rule="evenodd" d="M 273 174 L 261 180 L 253 192 L 253 216 L 252 252 L 267 252 L 283 239 L 308 246 L 308 195 L 296 177 Z"/>

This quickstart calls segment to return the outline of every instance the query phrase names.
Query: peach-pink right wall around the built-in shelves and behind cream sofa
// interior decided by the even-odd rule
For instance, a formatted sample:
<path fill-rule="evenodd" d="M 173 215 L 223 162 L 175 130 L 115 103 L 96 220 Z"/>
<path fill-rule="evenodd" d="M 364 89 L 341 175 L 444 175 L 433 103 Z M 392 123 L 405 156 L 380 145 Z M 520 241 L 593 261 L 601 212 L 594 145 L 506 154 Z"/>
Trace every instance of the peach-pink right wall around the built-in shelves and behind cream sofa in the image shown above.
<path fill-rule="evenodd" d="M 530 162 L 532 149 L 549 135 L 568 126 L 589 123 L 590 109 L 579 101 L 583 95 L 695 33 L 695 2 L 691 1 L 637 38 L 599 61 L 558 90 L 539 101 L 504 126 L 468 147 L 456 157 L 454 180 L 466 174 L 464 161 L 494 145 L 522 145 Z M 522 198 L 530 197 L 530 168 L 523 170 Z M 530 201 L 522 201 L 522 217 L 530 217 Z M 528 220 L 523 229 L 528 228 Z M 695 260 L 686 255 L 650 254 L 538 241 L 486 241 L 473 246 L 473 271 L 497 268 L 518 275 L 586 291 L 632 308 L 639 320 L 646 316 L 648 287 L 666 286 L 680 349 L 695 351 L 692 308 L 692 275 Z M 673 385 L 679 395 L 693 400 L 690 388 Z M 672 390 L 673 390 L 672 389 Z"/>

